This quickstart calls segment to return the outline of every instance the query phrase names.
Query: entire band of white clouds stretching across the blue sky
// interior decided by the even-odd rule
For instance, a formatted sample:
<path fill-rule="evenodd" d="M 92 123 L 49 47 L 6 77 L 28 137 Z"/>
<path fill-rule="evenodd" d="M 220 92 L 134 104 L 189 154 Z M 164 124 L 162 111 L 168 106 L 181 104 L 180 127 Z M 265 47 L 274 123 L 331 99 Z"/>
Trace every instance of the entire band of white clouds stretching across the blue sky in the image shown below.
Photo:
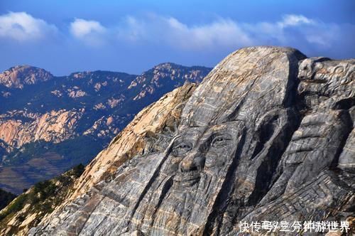
<path fill-rule="evenodd" d="M 58 28 L 26 12 L 9 12 L 0 16 L 0 38 L 20 43 L 40 41 L 58 35 L 81 41 L 89 46 L 114 43 L 148 43 L 168 45 L 182 50 L 218 50 L 248 45 L 291 45 L 302 43 L 323 48 L 346 40 L 346 28 L 354 25 L 324 23 L 302 15 L 288 14 L 276 22 L 237 22 L 217 18 L 204 24 L 187 25 L 172 16 L 145 14 L 125 16 L 116 24 L 104 26 L 92 19 L 75 18 L 67 28 Z M 345 37 L 346 38 L 346 37 Z M 351 41 L 351 38 L 348 39 Z"/>

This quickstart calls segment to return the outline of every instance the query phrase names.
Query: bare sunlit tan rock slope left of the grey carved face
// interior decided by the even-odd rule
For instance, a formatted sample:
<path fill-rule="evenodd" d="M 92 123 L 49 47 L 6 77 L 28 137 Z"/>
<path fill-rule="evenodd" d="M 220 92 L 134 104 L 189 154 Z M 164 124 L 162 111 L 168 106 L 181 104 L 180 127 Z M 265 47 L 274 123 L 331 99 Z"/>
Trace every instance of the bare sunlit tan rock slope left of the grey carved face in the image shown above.
<path fill-rule="evenodd" d="M 159 133 L 169 135 L 180 121 L 180 114 L 196 85 L 184 85 L 163 96 L 158 102 L 139 112 L 133 121 L 111 141 L 108 149 L 102 151 L 77 181 L 76 193 L 72 198 L 85 193 L 92 186 L 111 176 L 116 168 L 132 156 L 153 150 L 164 150 L 164 139 Z"/>

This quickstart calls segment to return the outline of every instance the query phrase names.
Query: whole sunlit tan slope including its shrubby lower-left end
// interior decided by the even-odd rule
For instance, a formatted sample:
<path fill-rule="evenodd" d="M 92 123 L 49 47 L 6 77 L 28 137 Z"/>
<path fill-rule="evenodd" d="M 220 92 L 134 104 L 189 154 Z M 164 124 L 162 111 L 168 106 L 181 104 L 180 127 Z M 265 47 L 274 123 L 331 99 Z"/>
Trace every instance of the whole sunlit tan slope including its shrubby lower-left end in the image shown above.
<path fill-rule="evenodd" d="M 76 174 L 75 178 L 70 178 L 68 182 L 68 173 L 69 176 L 73 176 L 72 171 L 69 171 L 59 178 L 45 181 L 47 186 L 51 186 L 50 194 L 47 198 L 36 199 L 34 202 L 31 196 L 38 192 L 36 190 L 38 188 L 33 187 L 19 195 L 13 203 L 0 211 L 0 225 L 2 225 L 0 235 L 28 235 L 31 227 L 37 226 L 43 218 L 48 218 L 50 213 L 60 207 L 65 200 L 73 198 L 84 189 L 109 177 L 115 171 L 115 166 L 120 166 L 121 163 L 137 154 L 160 149 L 156 144 L 161 142 L 161 137 L 155 134 L 162 131 L 173 132 L 174 124 L 180 118 L 183 104 L 187 102 L 195 88 L 195 84 L 179 87 L 139 112 L 133 121 L 111 141 L 110 146 L 113 149 L 109 146 L 107 149 L 111 151 L 100 153 L 80 178 L 77 178 L 80 175 Z M 74 173 L 78 173 L 75 169 Z M 40 183 L 40 186 L 43 186 L 43 183 Z M 59 195 L 59 198 L 53 198 L 55 195 Z M 40 205 L 46 205 L 47 210 L 40 208 Z"/>

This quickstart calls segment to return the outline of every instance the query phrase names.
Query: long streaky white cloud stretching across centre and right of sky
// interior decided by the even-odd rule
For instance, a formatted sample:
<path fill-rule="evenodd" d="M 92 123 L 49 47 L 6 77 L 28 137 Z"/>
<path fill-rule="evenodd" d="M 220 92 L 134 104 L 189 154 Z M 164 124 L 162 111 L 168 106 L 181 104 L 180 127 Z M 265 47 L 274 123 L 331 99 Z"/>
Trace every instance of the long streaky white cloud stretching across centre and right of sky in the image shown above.
<path fill-rule="evenodd" d="M 177 18 L 150 14 L 126 17 L 118 36 L 124 41 L 163 43 L 189 50 L 266 44 L 297 47 L 301 42 L 328 48 L 337 39 L 338 28 L 295 14 L 275 22 L 243 23 L 219 18 L 201 25 L 187 25 Z"/>

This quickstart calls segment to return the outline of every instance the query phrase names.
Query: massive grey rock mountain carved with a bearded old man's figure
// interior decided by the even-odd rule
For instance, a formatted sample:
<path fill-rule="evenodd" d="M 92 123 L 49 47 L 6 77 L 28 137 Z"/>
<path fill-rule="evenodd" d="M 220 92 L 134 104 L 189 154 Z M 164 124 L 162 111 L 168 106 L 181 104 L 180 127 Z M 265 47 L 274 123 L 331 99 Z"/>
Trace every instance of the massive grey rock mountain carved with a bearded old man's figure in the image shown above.
<path fill-rule="evenodd" d="M 174 119 L 164 102 L 145 109 L 146 122 L 119 134 L 30 235 L 236 235 L 241 220 L 351 221 L 354 69 L 292 48 L 231 53 Z M 143 129 L 144 141 L 124 143 Z"/>

